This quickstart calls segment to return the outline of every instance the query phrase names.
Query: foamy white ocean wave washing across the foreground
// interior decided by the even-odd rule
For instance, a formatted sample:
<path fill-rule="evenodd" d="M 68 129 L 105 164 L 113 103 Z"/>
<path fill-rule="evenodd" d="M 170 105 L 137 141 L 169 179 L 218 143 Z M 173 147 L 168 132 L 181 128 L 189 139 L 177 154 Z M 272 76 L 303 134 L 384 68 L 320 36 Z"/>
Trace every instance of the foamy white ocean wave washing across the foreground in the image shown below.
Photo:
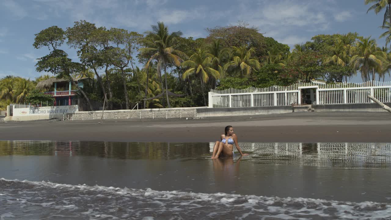
<path fill-rule="evenodd" d="M 192 193 L 0 179 L 1 220 L 389 219 L 391 204 L 226 193 Z"/>

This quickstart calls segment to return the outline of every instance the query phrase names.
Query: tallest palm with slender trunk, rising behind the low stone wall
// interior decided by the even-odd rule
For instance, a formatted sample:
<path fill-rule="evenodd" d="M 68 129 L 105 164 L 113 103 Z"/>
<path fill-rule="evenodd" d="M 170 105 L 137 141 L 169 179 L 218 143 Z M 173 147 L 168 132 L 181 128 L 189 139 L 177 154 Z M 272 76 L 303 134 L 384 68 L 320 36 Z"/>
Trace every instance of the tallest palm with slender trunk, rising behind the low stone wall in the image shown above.
<path fill-rule="evenodd" d="M 152 60 L 158 61 L 157 72 L 160 76 L 161 88 L 163 87 L 163 81 L 161 79 L 161 69 L 164 69 L 165 77 L 165 93 L 167 98 L 167 104 L 169 108 L 170 101 L 167 88 L 167 64 L 171 63 L 179 67 L 181 65 L 182 58 L 186 57 L 182 51 L 177 50 L 178 44 L 175 43 L 175 38 L 182 35 L 181 31 L 172 32 L 169 34 L 167 26 L 163 22 L 158 22 L 158 25 L 152 25 L 152 31 L 146 32 L 147 38 L 140 40 L 139 42 L 144 44 L 146 47 L 141 48 L 140 52 L 151 54 L 149 60 L 145 64 L 145 68 L 149 67 L 149 63 Z M 164 103 L 164 102 L 163 102 Z M 163 104 L 164 105 L 164 104 Z"/>

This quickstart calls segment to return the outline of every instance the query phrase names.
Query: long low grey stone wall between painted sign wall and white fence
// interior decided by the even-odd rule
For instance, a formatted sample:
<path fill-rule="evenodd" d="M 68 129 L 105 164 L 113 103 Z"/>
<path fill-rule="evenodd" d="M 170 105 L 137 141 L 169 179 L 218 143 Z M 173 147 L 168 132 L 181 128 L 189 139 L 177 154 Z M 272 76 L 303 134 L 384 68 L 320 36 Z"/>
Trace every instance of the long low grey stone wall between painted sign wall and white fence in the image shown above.
<path fill-rule="evenodd" d="M 153 118 L 181 118 L 181 117 L 197 117 L 197 109 L 206 107 L 194 108 L 154 108 L 141 110 L 111 110 L 104 111 L 103 119 L 153 119 Z M 91 112 L 75 112 L 74 114 L 67 114 L 65 120 L 91 120 L 100 119 L 102 111 Z"/>

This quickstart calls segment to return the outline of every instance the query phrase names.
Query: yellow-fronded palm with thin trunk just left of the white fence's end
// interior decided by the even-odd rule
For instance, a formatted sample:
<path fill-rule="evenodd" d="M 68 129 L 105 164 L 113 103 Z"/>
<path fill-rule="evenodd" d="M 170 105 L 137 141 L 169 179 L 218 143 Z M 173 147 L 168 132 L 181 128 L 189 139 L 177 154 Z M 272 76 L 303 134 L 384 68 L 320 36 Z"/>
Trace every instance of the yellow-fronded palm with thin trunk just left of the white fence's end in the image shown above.
<path fill-rule="evenodd" d="M 182 67 L 188 68 L 182 74 L 182 79 L 186 79 L 192 74 L 199 77 L 204 105 L 206 106 L 204 83 L 206 83 L 210 77 L 218 79 L 220 76 L 220 72 L 212 68 L 211 56 L 206 50 L 197 49 L 197 52 L 190 56 L 189 60 L 182 63 Z"/>

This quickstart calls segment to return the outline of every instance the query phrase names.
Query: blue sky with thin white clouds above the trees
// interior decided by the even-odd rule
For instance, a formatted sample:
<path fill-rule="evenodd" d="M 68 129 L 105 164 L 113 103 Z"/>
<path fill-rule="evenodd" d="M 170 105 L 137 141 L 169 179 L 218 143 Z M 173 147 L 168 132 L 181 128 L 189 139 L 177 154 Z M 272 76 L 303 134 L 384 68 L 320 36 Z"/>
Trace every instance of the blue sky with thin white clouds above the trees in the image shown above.
<path fill-rule="evenodd" d="M 244 21 L 291 48 L 317 34 L 357 32 L 385 45 L 384 11 L 367 10 L 364 0 L 0 0 L 0 78 L 13 75 L 34 79 L 36 59 L 48 49 L 34 49 L 34 34 L 50 26 L 63 29 L 86 20 L 97 27 L 117 27 L 143 33 L 162 21 L 169 31 L 206 37 L 206 28 Z M 72 60 L 74 50 L 63 48 Z M 386 81 L 391 81 L 386 77 Z M 352 82 L 361 82 L 353 77 Z"/>

